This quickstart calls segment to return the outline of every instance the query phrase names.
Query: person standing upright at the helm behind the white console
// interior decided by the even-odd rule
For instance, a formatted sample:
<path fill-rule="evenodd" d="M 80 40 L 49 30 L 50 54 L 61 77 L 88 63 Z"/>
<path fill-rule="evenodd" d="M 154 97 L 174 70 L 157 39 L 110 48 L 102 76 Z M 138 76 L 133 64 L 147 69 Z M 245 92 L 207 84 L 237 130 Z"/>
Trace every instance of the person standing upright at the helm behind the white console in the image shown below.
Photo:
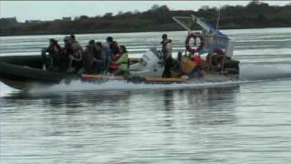
<path fill-rule="evenodd" d="M 163 77 L 171 77 L 171 66 L 172 66 L 172 40 L 168 39 L 166 34 L 162 36 L 162 54 L 165 60 L 165 69 Z"/>

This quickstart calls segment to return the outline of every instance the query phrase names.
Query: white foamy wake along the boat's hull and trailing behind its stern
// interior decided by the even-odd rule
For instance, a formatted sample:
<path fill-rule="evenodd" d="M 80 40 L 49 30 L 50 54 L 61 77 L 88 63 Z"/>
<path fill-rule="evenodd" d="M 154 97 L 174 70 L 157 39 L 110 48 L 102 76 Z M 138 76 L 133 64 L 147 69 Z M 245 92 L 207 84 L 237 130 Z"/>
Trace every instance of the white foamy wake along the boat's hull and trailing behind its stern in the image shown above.
<path fill-rule="evenodd" d="M 221 77 L 212 78 L 207 81 L 192 81 L 186 84 L 134 84 L 124 81 L 108 81 L 101 84 L 72 81 L 69 85 L 62 82 L 54 86 L 35 86 L 28 90 L 30 94 L 51 94 L 60 92 L 93 91 L 93 90 L 136 90 L 136 89 L 181 89 L 197 87 L 228 87 L 256 81 L 268 81 L 291 78 L 290 64 L 241 64 L 240 80 L 229 80 Z M 16 89 L 0 83 L 0 97 L 9 93 L 19 92 Z"/>

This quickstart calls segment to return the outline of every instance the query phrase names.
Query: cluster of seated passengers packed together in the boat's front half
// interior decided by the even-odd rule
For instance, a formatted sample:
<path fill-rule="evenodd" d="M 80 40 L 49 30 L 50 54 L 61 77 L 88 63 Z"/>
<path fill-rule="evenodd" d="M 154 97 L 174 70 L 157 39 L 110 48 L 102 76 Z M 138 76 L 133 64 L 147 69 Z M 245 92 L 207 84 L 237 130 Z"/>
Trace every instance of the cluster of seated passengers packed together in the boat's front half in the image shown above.
<path fill-rule="evenodd" d="M 48 56 L 46 55 L 48 53 Z M 51 38 L 49 46 L 42 51 L 44 69 L 67 73 L 125 75 L 128 71 L 126 47 L 118 46 L 112 36 L 104 43 L 90 40 L 83 48 L 75 36 L 65 36 L 64 47 Z"/>

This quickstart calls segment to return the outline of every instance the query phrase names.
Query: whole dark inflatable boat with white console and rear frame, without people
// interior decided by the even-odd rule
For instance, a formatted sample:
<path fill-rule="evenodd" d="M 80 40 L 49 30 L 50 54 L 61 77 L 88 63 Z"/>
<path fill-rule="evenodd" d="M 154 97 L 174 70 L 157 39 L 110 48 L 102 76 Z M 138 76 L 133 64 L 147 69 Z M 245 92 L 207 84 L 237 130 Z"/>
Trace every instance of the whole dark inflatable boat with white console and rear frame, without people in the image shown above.
<path fill-rule="evenodd" d="M 178 52 L 173 60 L 172 77 L 162 77 L 165 62 L 161 52 L 151 47 L 140 58 L 129 59 L 129 72 L 125 76 L 108 74 L 69 74 L 43 69 L 41 56 L 0 56 L 0 81 L 17 89 L 29 89 L 35 85 L 50 86 L 60 82 L 70 84 L 72 80 L 104 83 L 108 80 L 122 80 L 131 83 L 169 84 L 189 83 L 195 79 L 208 77 L 228 77 L 237 79 L 239 61 L 232 59 L 233 44 L 231 40 L 203 18 L 173 17 L 174 20 L 188 30 L 185 44 L 186 51 Z M 182 20 L 188 20 L 188 23 Z M 190 24 L 202 27 L 201 33 L 194 33 Z M 198 46 L 191 40 L 199 39 Z M 197 45 L 197 44 L 196 44 Z M 203 58 L 203 66 L 198 66 L 195 56 Z"/>

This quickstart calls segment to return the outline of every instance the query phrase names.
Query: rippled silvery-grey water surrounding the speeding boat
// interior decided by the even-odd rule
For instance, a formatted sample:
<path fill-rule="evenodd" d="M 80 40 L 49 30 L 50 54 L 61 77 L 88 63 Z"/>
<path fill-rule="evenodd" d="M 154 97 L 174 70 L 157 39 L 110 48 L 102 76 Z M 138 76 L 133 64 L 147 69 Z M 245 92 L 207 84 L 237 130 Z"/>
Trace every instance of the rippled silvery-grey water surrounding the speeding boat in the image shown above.
<path fill-rule="evenodd" d="M 0 83 L 0 163 L 290 163 L 291 28 L 223 30 L 239 81 L 71 85 L 28 93 Z M 115 36 L 129 56 L 163 32 Z M 175 54 L 186 32 L 167 32 Z M 0 56 L 38 55 L 64 36 L 0 37 Z"/>

